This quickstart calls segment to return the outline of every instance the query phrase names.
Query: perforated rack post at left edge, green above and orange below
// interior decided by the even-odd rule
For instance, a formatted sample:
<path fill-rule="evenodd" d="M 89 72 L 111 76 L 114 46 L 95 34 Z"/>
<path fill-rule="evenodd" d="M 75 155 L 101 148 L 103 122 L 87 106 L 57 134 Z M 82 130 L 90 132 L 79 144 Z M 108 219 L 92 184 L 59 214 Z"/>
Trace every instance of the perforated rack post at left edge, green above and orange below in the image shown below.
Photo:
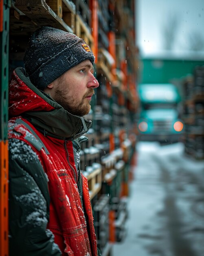
<path fill-rule="evenodd" d="M 0 256 L 9 255 L 7 120 L 10 2 L 0 0 Z"/>

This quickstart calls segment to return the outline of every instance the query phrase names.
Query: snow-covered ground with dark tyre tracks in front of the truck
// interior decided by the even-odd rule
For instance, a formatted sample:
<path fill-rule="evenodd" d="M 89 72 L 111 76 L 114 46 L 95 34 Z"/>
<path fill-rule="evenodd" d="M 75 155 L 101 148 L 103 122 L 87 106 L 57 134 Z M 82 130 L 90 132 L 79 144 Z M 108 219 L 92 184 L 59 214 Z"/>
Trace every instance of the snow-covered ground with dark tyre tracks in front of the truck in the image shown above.
<path fill-rule="evenodd" d="M 183 144 L 140 142 L 127 236 L 112 256 L 204 255 L 204 161 Z"/>

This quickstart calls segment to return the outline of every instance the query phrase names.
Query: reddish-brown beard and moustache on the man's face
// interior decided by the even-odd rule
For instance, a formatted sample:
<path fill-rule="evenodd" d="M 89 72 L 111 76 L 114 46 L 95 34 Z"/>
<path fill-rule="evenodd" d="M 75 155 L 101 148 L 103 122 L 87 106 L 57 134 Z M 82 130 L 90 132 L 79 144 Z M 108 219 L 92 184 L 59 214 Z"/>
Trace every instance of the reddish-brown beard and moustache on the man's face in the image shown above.
<path fill-rule="evenodd" d="M 80 92 L 76 92 L 76 95 L 77 93 Z M 55 91 L 55 101 L 72 115 L 81 117 L 88 115 L 91 109 L 90 101 L 86 97 L 92 94 L 94 94 L 94 89 L 89 89 L 82 100 L 78 101 L 77 98 L 69 95 L 68 88 L 61 86 L 61 88 L 58 87 Z"/>

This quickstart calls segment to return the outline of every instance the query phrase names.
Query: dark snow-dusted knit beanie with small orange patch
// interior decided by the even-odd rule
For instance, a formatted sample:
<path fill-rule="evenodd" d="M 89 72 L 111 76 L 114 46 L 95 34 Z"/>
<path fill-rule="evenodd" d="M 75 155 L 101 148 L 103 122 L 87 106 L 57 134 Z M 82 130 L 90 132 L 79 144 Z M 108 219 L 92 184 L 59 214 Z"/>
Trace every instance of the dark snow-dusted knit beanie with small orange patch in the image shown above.
<path fill-rule="evenodd" d="M 85 60 L 95 57 L 85 41 L 75 34 L 53 27 L 41 27 L 31 36 L 24 66 L 31 82 L 40 90 Z"/>

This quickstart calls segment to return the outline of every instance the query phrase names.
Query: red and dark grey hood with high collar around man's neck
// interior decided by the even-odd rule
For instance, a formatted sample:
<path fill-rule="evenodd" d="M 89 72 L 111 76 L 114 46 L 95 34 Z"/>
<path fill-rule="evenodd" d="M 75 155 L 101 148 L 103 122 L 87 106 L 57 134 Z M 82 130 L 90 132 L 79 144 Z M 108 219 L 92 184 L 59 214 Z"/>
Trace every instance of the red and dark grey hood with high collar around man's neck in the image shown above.
<path fill-rule="evenodd" d="M 9 85 L 9 117 L 28 119 L 45 135 L 76 139 L 86 133 L 91 121 L 70 114 L 30 81 L 22 67 L 13 71 Z"/>

